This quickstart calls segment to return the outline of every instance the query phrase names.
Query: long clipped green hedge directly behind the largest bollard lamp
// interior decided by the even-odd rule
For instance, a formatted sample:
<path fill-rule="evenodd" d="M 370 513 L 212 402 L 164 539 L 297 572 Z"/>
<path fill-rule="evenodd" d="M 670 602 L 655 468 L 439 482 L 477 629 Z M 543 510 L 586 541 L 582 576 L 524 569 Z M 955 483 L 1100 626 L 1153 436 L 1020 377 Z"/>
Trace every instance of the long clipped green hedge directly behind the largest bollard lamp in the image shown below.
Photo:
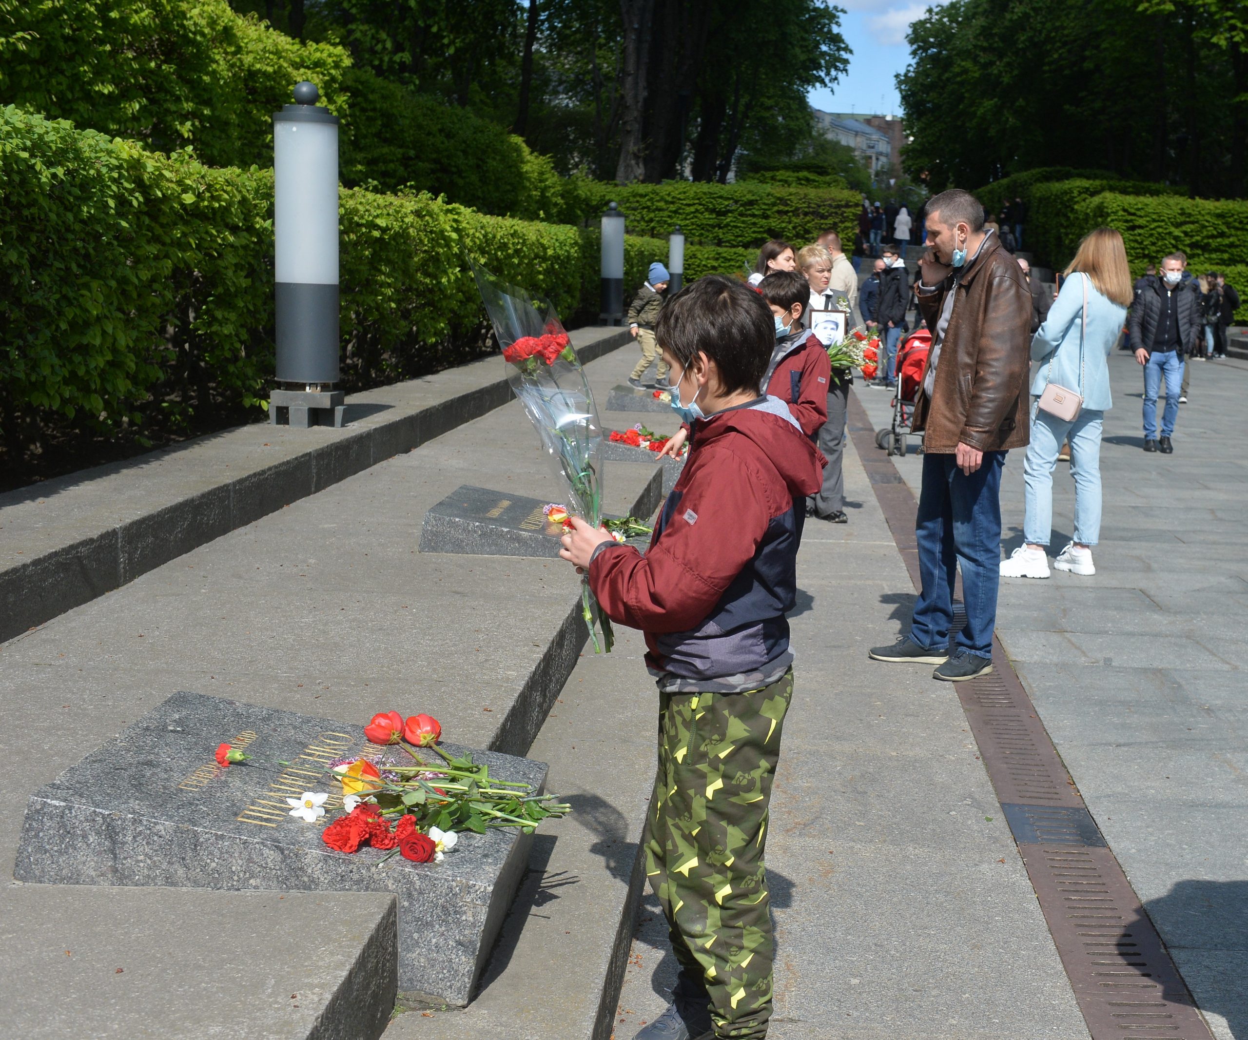
<path fill-rule="evenodd" d="M 166 159 L 9 106 L 0 185 L 0 411 L 116 431 L 256 402 L 273 365 L 271 171 Z M 341 205 L 348 383 L 480 341 L 466 253 L 577 310 L 577 228 L 428 195 L 344 189 Z"/>

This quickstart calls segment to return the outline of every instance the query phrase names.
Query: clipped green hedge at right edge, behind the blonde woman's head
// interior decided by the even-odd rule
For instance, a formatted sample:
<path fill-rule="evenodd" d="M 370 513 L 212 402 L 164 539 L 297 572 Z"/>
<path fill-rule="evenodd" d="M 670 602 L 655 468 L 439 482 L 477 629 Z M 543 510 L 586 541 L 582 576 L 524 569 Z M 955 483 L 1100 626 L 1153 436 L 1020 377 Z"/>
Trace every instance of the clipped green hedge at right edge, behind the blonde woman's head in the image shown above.
<path fill-rule="evenodd" d="M 1248 321 L 1248 202 L 1102 192 L 1078 205 L 1070 226 L 1076 241 L 1094 227 L 1122 232 L 1137 277 L 1148 263 L 1176 251 L 1187 253 L 1197 275 L 1226 273 L 1244 298 L 1236 320 Z"/>

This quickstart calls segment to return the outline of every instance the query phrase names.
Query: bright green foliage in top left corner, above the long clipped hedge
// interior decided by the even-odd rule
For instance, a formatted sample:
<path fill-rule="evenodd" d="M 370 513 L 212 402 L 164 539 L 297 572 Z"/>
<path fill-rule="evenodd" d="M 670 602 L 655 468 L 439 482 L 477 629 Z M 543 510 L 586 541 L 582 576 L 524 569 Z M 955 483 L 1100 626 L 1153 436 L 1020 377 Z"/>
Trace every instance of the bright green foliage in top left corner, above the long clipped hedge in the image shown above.
<path fill-rule="evenodd" d="M 351 57 L 226 0 L 0 0 L 0 104 L 212 166 L 272 165 L 272 114 L 312 80 L 334 111 Z"/>

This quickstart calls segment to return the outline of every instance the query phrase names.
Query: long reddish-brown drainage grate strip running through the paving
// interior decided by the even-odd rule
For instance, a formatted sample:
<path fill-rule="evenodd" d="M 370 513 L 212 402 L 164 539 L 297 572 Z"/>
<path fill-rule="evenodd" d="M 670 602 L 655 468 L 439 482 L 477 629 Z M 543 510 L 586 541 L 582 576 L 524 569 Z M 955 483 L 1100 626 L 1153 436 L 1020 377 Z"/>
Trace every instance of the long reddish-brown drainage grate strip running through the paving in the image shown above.
<path fill-rule="evenodd" d="M 900 474 L 881 479 L 884 467 L 896 467 L 879 458 L 852 392 L 849 412 L 854 447 L 917 588 L 915 497 Z M 966 624 L 957 607 L 955 630 Z M 991 674 L 958 683 L 957 695 L 1093 1040 L 1213 1040 L 1000 640 L 992 663 Z"/>

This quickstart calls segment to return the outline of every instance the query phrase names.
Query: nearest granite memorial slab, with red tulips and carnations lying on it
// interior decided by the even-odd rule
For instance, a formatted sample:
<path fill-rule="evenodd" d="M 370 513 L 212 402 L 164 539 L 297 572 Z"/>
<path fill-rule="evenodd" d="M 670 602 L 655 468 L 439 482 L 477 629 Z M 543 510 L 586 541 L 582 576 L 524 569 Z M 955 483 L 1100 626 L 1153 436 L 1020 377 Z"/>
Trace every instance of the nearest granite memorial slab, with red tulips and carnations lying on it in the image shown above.
<path fill-rule="evenodd" d="M 221 743 L 290 765 L 217 765 Z M 467 749 L 443 744 L 452 754 Z M 426 753 L 428 754 L 428 753 Z M 472 750 L 492 775 L 545 784 L 543 763 Z M 442 863 L 411 863 L 321 840 L 342 807 L 328 763 L 411 758 L 364 740 L 362 727 L 237 700 L 175 693 L 31 795 L 14 876 L 75 885 L 388 891 L 398 900 L 398 984 L 463 1005 L 484 966 L 529 859 L 513 828 L 463 833 Z M 393 757 L 391 759 L 389 757 Z M 434 760 L 429 755 L 431 762 Z M 317 823 L 286 799 L 329 792 Z"/>

